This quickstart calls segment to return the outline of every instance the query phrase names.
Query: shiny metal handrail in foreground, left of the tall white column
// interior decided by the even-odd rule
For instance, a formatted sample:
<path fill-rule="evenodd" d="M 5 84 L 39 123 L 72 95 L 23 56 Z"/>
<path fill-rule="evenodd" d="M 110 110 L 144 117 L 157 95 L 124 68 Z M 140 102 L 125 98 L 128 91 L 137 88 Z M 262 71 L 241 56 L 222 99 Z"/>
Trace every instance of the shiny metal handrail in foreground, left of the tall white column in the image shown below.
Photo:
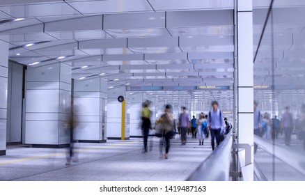
<path fill-rule="evenodd" d="M 232 132 L 226 134 L 219 147 L 191 173 L 187 181 L 228 181 L 233 145 Z"/>

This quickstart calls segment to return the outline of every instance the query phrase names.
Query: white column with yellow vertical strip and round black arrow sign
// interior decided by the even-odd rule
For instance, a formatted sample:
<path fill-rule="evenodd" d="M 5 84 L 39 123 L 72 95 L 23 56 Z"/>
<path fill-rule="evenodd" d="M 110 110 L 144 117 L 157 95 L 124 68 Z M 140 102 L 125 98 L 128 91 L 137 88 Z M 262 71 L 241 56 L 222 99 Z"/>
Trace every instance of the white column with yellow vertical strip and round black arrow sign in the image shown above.
<path fill-rule="evenodd" d="M 120 95 L 124 97 L 125 102 L 118 102 Z M 122 111 L 125 118 L 122 117 Z M 130 139 L 130 100 L 125 86 L 108 89 L 107 138 Z"/>

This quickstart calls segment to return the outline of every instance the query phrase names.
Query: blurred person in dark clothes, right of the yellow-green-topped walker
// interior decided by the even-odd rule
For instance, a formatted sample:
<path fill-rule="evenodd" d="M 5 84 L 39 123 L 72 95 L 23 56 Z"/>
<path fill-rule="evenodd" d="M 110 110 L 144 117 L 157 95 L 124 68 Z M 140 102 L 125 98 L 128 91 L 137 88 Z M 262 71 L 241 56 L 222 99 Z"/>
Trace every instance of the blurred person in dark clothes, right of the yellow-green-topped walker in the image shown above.
<path fill-rule="evenodd" d="M 164 157 L 165 159 L 169 158 L 169 148 L 170 148 L 170 140 L 173 133 L 173 115 L 171 114 L 171 105 L 167 104 L 164 109 L 164 114 L 159 118 L 157 123 L 159 123 L 160 132 L 162 134 L 159 146 L 160 157 Z M 165 147 L 165 155 L 163 156 L 163 148 L 164 148 L 164 141 L 166 143 Z"/>

